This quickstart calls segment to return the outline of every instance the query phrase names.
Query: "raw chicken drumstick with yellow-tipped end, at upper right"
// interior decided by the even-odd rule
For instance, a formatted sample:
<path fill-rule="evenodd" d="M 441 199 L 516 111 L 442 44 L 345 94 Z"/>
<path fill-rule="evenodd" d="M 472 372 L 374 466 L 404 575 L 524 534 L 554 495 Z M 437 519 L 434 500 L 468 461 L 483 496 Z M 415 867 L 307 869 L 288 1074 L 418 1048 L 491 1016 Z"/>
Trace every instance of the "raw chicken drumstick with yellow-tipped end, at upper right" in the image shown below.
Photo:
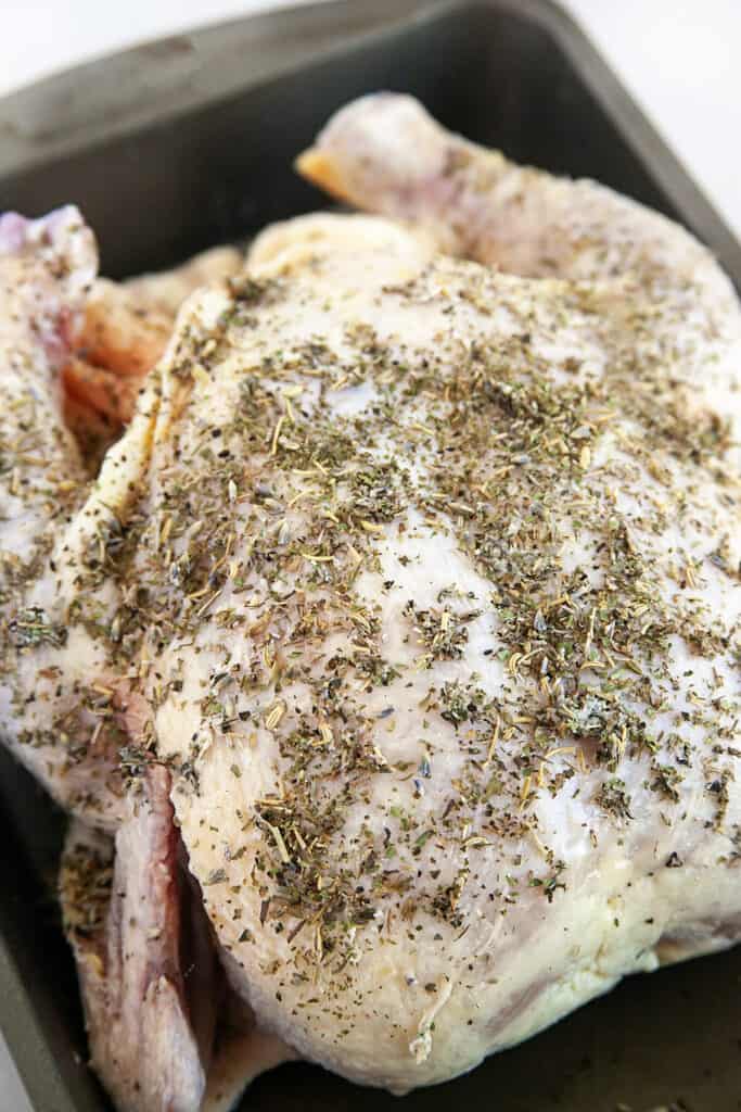
<path fill-rule="evenodd" d="M 738 319 L 712 255 L 671 220 L 599 182 L 509 162 L 445 131 L 412 97 L 348 105 L 297 168 L 361 209 L 424 228 L 445 254 L 531 278 L 631 277 L 653 301 L 703 295 L 711 319 Z"/>

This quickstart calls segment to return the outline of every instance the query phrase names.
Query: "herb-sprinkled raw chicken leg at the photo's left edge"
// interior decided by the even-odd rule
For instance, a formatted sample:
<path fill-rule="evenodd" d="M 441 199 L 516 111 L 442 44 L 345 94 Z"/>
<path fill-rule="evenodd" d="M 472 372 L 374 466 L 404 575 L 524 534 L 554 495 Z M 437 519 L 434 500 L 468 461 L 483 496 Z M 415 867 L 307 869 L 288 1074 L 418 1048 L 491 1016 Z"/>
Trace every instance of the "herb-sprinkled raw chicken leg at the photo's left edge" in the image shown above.
<path fill-rule="evenodd" d="M 73 565 L 86 544 L 76 520 L 86 475 L 61 419 L 58 371 L 96 265 L 92 234 L 74 209 L 0 219 L 0 729 L 61 803 L 74 798 L 80 813 L 92 808 L 114 826 L 116 744 L 88 684 L 106 652 L 74 622 L 47 619 L 54 572 L 74 605 Z M 102 584 L 100 605 L 106 592 Z"/>

